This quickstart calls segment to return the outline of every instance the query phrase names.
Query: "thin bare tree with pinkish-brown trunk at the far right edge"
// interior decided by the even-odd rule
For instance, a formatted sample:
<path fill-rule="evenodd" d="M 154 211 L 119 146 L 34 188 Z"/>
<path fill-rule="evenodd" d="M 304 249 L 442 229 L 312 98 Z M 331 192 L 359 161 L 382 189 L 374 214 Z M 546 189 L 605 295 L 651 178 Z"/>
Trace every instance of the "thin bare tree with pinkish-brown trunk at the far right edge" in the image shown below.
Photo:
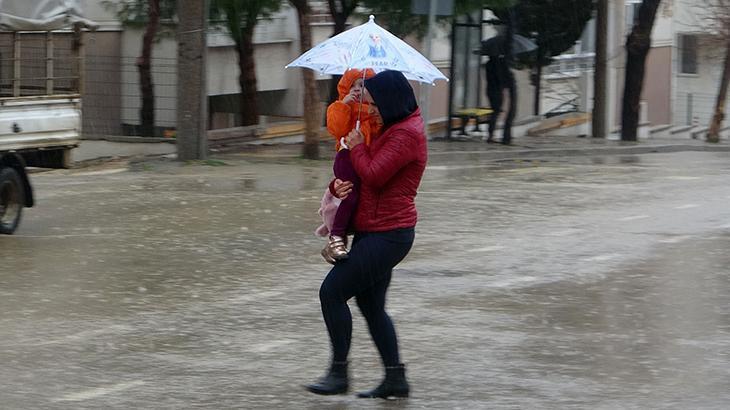
<path fill-rule="evenodd" d="M 728 85 L 730 85 L 730 0 L 705 0 L 706 19 L 710 30 L 725 49 L 725 64 L 722 69 L 722 79 L 717 93 L 715 113 L 707 131 L 707 142 L 720 141 L 720 129 L 725 119 Z"/>

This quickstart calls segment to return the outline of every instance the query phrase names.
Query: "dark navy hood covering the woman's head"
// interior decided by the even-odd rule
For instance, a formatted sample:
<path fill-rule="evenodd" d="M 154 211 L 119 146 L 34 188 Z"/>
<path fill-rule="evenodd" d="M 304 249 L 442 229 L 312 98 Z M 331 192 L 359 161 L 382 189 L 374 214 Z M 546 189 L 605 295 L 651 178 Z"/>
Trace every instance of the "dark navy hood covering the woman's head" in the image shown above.
<path fill-rule="evenodd" d="M 383 117 L 383 129 L 418 109 L 413 88 L 400 71 L 383 71 L 365 80 L 365 88 Z"/>

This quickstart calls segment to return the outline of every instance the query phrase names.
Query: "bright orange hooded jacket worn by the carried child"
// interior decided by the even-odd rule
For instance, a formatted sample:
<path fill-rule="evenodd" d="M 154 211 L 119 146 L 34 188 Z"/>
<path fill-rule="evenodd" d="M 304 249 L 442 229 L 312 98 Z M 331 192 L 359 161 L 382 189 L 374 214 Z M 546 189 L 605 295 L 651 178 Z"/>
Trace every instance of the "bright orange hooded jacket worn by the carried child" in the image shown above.
<path fill-rule="evenodd" d="M 364 74 L 366 79 L 375 75 L 373 70 L 369 69 L 365 70 Z M 360 119 L 360 132 L 365 138 L 366 145 L 370 145 L 372 135 L 377 134 L 380 129 L 379 124 L 370 116 L 369 104 L 359 101 L 354 101 L 349 104 L 342 102 L 347 94 L 350 93 L 352 84 L 359 78 L 363 78 L 362 70 L 347 70 L 337 83 L 339 99 L 327 107 L 327 131 L 337 141 L 337 150 L 340 148 L 340 138 L 347 136 L 355 128 L 358 115 Z M 358 110 L 360 111 L 359 114 Z"/>

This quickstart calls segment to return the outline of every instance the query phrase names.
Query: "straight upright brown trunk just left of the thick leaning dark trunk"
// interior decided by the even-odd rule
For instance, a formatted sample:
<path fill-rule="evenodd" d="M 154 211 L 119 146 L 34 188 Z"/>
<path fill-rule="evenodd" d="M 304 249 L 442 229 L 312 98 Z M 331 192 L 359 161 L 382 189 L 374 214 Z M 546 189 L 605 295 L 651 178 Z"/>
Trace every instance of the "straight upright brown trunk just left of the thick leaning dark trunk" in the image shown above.
<path fill-rule="evenodd" d="M 598 0 L 596 5 L 596 57 L 593 78 L 594 138 L 606 138 L 606 96 L 608 90 L 606 56 L 608 55 L 608 0 Z"/>

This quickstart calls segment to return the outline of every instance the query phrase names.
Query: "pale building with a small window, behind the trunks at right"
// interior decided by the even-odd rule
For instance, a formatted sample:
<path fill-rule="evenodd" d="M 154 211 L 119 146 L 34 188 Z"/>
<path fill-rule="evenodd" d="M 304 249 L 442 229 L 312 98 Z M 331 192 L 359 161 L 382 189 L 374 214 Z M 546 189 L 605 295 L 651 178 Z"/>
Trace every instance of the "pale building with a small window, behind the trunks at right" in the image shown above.
<path fill-rule="evenodd" d="M 726 43 L 713 35 L 712 16 L 705 13 L 702 1 L 664 0 L 659 6 L 642 94 L 643 120 L 650 128 L 701 128 L 710 122 Z M 640 4 L 641 0 L 609 1 L 609 120 L 613 133 L 621 128 L 626 36 Z M 545 111 L 565 103 L 574 103 L 580 111 L 592 110 L 594 30 L 595 23 L 589 23 L 575 49 L 559 56 L 546 70 Z"/>

